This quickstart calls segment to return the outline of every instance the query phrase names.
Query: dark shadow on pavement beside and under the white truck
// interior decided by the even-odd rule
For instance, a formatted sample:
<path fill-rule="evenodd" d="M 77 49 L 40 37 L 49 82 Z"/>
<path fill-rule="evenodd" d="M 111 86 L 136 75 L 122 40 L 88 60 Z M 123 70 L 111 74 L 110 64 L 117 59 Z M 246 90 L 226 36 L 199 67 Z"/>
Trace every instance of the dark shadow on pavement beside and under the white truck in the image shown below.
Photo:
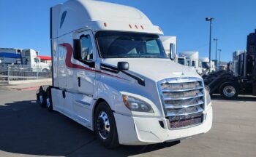
<path fill-rule="evenodd" d="M 0 105 L 0 150 L 45 156 L 132 156 L 179 142 L 105 149 L 94 132 L 57 112 L 48 112 L 36 101 Z"/>

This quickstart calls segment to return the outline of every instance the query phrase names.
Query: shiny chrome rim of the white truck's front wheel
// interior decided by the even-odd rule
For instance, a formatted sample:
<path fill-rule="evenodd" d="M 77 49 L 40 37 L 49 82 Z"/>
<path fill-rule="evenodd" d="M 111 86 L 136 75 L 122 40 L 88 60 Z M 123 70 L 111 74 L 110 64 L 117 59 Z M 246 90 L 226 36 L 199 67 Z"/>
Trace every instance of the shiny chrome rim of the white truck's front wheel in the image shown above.
<path fill-rule="evenodd" d="M 109 137 L 110 134 L 110 121 L 107 113 L 101 111 L 97 118 L 97 130 L 99 132 L 99 136 L 105 140 Z"/>

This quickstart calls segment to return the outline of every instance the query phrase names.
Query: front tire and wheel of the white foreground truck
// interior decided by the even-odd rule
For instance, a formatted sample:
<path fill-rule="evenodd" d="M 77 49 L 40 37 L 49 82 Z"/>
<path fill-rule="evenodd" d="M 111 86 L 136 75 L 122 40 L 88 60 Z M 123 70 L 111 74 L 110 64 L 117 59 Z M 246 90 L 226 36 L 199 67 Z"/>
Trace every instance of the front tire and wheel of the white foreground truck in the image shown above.
<path fill-rule="evenodd" d="M 94 113 L 94 132 L 105 148 L 116 148 L 119 145 L 116 121 L 106 102 L 100 102 Z"/>

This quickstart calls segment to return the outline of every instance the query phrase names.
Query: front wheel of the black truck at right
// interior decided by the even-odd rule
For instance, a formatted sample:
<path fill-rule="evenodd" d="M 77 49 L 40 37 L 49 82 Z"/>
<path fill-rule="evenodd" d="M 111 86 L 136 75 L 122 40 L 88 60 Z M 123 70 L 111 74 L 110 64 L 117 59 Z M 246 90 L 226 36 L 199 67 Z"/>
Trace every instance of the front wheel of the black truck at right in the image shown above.
<path fill-rule="evenodd" d="M 238 96 L 238 87 L 232 83 L 223 84 L 220 88 L 220 94 L 227 100 L 236 99 Z"/>

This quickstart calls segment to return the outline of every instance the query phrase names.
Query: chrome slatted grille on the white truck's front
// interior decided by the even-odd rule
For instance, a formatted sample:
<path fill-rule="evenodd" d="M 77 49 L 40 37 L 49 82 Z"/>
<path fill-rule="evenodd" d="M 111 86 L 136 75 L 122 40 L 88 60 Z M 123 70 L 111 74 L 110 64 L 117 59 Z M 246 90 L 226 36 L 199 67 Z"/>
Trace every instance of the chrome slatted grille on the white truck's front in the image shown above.
<path fill-rule="evenodd" d="M 170 129 L 203 122 L 204 85 L 199 78 L 173 78 L 159 81 L 159 93 Z"/>

